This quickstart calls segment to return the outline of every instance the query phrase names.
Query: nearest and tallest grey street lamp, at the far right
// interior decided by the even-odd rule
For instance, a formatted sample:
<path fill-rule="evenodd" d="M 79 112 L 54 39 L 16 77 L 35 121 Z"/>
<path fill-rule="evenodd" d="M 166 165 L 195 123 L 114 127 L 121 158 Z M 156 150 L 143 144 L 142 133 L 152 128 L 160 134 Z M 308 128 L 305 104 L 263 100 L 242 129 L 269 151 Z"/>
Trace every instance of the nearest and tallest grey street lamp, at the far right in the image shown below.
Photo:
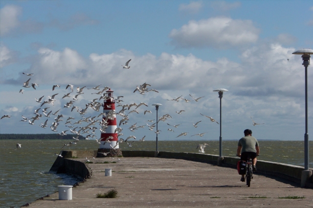
<path fill-rule="evenodd" d="M 304 171 L 301 177 L 301 187 L 305 187 L 307 177 L 312 175 L 309 170 L 309 133 L 308 133 L 308 66 L 310 65 L 310 54 L 313 54 L 312 49 L 301 49 L 292 54 L 302 55 L 305 67 L 305 134 L 304 134 Z"/>

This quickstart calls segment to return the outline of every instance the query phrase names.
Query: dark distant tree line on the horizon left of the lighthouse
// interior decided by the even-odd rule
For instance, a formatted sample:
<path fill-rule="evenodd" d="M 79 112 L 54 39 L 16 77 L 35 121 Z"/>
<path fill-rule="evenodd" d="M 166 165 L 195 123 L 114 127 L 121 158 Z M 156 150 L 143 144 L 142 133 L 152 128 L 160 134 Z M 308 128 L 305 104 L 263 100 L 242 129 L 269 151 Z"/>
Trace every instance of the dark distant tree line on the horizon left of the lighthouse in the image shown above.
<path fill-rule="evenodd" d="M 57 135 L 56 133 L 40 133 L 40 134 L 17 134 L 17 133 L 1 133 L 0 139 L 73 139 L 77 137 L 76 134 L 67 134 L 64 136 Z M 78 139 L 84 139 L 84 136 L 79 136 Z"/>

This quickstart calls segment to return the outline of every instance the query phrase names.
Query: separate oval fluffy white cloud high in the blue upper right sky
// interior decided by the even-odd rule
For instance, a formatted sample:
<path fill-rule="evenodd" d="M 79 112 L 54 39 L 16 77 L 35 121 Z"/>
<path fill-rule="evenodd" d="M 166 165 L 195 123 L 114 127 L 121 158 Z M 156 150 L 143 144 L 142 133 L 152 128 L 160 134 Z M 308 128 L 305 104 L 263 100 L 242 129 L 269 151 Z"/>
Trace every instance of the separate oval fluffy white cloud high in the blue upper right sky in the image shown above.
<path fill-rule="evenodd" d="M 229 48 L 257 41 L 259 29 L 251 20 L 216 17 L 189 21 L 169 34 L 178 47 Z"/>

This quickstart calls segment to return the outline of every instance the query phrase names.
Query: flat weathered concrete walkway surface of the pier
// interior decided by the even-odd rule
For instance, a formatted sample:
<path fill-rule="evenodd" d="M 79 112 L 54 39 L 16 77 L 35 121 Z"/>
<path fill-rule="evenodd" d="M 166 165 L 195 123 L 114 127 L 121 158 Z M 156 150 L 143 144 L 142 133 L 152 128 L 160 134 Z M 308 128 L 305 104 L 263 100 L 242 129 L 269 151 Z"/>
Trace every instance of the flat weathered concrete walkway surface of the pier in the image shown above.
<path fill-rule="evenodd" d="M 89 160 L 93 162 L 87 164 L 92 176 L 72 188 L 72 200 L 59 200 L 56 192 L 44 200 L 31 203 L 29 207 L 313 208 L 312 188 L 302 189 L 299 184 L 274 176 L 256 173 L 251 186 L 247 187 L 246 183 L 240 181 L 237 170 L 204 162 L 157 157 Z M 105 176 L 105 168 L 112 168 L 112 176 Z M 97 193 L 110 189 L 118 191 L 116 198 L 96 198 Z M 287 196 L 305 198 L 279 198 Z"/>

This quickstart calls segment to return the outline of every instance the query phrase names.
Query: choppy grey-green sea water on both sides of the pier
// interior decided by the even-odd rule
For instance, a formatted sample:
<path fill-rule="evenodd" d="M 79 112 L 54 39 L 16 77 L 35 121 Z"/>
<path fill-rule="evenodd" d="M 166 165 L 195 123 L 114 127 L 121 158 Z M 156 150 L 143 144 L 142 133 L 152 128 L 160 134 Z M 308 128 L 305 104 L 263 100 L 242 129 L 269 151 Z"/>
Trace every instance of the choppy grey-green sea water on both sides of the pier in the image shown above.
<path fill-rule="evenodd" d="M 71 140 L 0 140 L 0 208 L 21 207 L 47 194 L 60 185 L 78 182 L 66 174 L 49 173 L 56 155 L 62 150 L 97 150 L 95 140 L 80 140 L 77 145 L 66 146 Z M 16 144 L 22 144 L 17 149 Z M 219 141 L 158 141 L 158 151 L 198 152 L 198 144 L 207 143 L 207 154 L 219 155 Z M 236 156 L 238 141 L 223 141 L 222 155 Z M 259 141 L 259 160 L 304 166 L 303 141 Z M 62 148 L 63 147 L 63 148 Z M 156 151 L 156 141 L 136 141 L 123 150 Z M 310 143 L 310 149 L 313 145 Z M 312 154 L 311 154 L 312 155 Z M 310 156 L 310 167 L 313 157 Z"/>

